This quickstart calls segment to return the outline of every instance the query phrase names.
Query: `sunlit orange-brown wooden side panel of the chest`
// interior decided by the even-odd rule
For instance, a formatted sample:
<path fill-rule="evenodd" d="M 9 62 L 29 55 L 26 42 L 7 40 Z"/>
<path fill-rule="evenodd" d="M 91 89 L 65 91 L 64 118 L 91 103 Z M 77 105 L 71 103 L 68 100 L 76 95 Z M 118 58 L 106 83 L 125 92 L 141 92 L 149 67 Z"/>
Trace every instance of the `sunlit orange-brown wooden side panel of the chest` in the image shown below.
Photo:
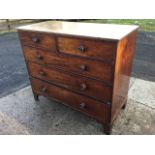
<path fill-rule="evenodd" d="M 127 37 L 120 40 L 118 44 L 112 98 L 112 122 L 127 100 L 132 61 L 136 43 L 136 34 L 137 31 L 130 33 Z"/>

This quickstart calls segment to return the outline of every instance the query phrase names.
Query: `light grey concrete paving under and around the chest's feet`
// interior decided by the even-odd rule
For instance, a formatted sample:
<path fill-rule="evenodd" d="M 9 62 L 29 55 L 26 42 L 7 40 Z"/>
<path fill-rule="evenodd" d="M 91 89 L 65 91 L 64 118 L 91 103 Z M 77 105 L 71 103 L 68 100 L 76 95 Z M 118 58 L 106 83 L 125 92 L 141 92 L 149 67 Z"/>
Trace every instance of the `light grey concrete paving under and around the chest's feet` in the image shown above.
<path fill-rule="evenodd" d="M 40 97 L 28 86 L 0 98 L 0 134 L 103 135 L 103 127 L 80 112 Z M 129 100 L 114 122 L 113 135 L 155 134 L 155 83 L 132 78 Z"/>

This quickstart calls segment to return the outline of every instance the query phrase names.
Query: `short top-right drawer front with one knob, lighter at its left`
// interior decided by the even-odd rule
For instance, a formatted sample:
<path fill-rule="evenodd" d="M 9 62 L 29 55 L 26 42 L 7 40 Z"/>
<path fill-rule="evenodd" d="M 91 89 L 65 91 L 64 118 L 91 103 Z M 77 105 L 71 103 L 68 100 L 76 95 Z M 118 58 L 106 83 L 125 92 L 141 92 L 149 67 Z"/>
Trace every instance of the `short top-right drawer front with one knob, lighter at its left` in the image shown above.
<path fill-rule="evenodd" d="M 93 41 L 76 38 L 58 37 L 58 50 L 62 53 L 113 62 L 116 42 Z"/>

